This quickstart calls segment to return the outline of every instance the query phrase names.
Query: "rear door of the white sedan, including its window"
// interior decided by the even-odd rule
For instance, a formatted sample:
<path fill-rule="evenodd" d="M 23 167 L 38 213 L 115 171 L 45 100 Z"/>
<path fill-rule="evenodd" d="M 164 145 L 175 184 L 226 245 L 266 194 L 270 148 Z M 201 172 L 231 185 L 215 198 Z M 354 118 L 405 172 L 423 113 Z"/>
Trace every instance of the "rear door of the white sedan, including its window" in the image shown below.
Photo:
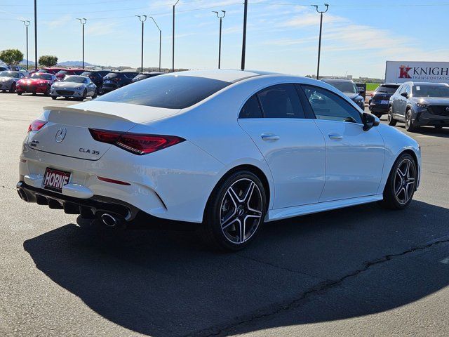
<path fill-rule="evenodd" d="M 274 209 L 319 201 L 326 143 L 314 119 L 306 118 L 295 85 L 270 86 L 251 96 L 239 124 L 272 172 Z"/>

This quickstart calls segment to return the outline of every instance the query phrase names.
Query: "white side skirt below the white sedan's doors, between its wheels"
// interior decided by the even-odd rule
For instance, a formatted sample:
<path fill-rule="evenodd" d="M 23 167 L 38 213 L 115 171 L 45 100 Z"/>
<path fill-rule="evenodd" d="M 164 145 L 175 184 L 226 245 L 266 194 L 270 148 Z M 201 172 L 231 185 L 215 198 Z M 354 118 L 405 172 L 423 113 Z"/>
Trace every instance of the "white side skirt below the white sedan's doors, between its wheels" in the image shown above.
<path fill-rule="evenodd" d="M 306 214 L 330 211 L 331 209 L 342 209 L 344 207 L 368 204 L 369 202 L 383 199 L 382 194 L 374 194 L 368 197 L 358 197 L 335 201 L 319 202 L 318 204 L 308 204 L 302 206 L 288 207 L 284 209 L 270 209 L 265 217 L 265 222 L 292 218 L 293 216 L 304 216 Z"/>

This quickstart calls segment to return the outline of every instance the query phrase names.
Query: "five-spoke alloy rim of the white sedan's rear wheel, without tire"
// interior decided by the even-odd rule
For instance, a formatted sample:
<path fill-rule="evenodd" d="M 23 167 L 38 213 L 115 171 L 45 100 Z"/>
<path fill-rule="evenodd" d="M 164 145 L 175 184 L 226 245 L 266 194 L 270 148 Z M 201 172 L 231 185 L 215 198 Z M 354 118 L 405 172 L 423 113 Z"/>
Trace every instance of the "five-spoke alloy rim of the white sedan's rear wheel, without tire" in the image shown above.
<path fill-rule="evenodd" d="M 262 193 L 249 179 L 236 180 L 226 191 L 220 205 L 220 226 L 226 239 L 243 244 L 256 232 L 263 210 Z"/>

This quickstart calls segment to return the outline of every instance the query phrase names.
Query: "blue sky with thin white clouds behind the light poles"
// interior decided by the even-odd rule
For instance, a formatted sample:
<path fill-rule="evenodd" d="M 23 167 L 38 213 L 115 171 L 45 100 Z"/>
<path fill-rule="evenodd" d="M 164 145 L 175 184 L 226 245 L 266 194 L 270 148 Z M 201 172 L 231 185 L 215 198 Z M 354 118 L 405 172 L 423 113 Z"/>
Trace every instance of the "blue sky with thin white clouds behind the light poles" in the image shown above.
<path fill-rule="evenodd" d="M 171 66 L 175 0 L 38 0 L 39 55 L 81 60 L 81 25 L 88 18 L 86 62 L 140 66 L 140 22 L 153 15 L 162 29 L 162 67 Z M 246 68 L 291 74 L 316 72 L 319 14 L 302 0 L 250 0 Z M 326 2 L 326 1 L 323 1 Z M 323 20 L 321 74 L 383 77 L 386 60 L 449 61 L 449 0 L 329 0 Z M 180 0 L 176 6 L 175 67 L 217 67 L 218 24 L 223 19 L 222 67 L 241 62 L 242 0 Z M 75 6 L 74 6 L 75 5 Z M 411 6 L 410 6 L 411 5 Z M 413 6 L 418 5 L 418 6 Z M 424 5 L 424 6 L 422 6 Z M 25 53 L 25 27 L 33 0 L 0 0 L 0 50 Z M 33 22 L 29 59 L 34 60 Z M 159 60 L 159 31 L 145 23 L 145 67 Z"/>

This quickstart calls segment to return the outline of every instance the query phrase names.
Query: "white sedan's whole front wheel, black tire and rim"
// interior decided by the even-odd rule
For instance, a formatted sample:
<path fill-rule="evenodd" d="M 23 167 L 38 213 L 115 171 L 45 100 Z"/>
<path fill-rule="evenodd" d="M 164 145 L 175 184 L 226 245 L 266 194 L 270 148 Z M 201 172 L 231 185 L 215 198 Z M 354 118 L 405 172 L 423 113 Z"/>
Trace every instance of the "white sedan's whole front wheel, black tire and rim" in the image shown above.
<path fill-rule="evenodd" d="M 398 173 L 398 168 L 400 171 L 404 171 L 404 163 L 408 162 L 410 164 L 410 176 L 404 177 L 401 173 Z M 406 172 L 406 175 L 408 173 Z M 402 179 L 400 178 L 402 177 Z M 410 185 L 409 182 L 403 183 L 403 179 L 413 178 L 414 183 Z M 413 194 L 415 194 L 417 183 L 417 167 L 415 163 L 415 159 L 408 154 L 401 154 L 398 159 L 394 162 L 393 167 L 391 168 L 387 184 L 385 184 L 384 188 L 384 199 L 381 201 L 382 206 L 387 207 L 388 209 L 405 209 L 413 199 Z M 403 190 L 406 188 L 406 190 Z M 406 194 L 407 193 L 407 194 Z M 402 200 L 401 200 L 402 199 Z"/>

